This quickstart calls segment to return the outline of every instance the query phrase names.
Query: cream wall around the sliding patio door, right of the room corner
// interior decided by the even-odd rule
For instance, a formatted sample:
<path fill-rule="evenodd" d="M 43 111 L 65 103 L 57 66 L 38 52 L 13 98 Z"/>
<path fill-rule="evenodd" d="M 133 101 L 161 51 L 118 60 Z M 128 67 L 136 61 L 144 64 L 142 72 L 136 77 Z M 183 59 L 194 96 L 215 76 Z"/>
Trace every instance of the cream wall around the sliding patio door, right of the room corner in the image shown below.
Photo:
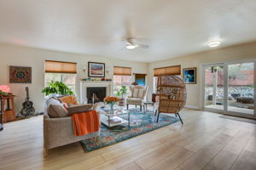
<path fill-rule="evenodd" d="M 221 61 L 231 61 L 236 59 L 256 58 L 256 42 L 242 44 L 230 48 L 220 48 L 200 54 L 191 54 L 188 56 L 174 59 L 162 60 L 150 63 L 148 65 L 148 84 L 149 92 L 153 92 L 153 70 L 154 68 L 181 65 L 182 68 L 197 67 L 197 83 L 187 84 L 187 104 L 191 108 L 201 108 L 201 64 L 217 63 Z M 151 99 L 151 93 L 148 93 L 148 99 Z"/>

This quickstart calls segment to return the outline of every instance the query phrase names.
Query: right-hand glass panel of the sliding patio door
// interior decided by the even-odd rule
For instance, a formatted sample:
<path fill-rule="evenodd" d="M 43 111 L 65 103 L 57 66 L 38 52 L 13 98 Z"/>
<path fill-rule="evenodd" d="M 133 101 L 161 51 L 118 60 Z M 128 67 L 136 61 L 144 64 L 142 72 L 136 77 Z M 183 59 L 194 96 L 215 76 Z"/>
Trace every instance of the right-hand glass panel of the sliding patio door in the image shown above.
<path fill-rule="evenodd" d="M 254 114 L 254 63 L 228 65 L 228 111 Z"/>

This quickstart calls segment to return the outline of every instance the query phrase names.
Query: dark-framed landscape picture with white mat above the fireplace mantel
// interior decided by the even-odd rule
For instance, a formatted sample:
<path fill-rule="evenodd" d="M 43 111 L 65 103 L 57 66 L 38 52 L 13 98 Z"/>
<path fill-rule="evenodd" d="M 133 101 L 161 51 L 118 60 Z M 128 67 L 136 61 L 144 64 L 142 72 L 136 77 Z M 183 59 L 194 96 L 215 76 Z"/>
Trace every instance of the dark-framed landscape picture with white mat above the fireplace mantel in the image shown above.
<path fill-rule="evenodd" d="M 88 62 L 88 77 L 105 77 L 105 63 Z"/>

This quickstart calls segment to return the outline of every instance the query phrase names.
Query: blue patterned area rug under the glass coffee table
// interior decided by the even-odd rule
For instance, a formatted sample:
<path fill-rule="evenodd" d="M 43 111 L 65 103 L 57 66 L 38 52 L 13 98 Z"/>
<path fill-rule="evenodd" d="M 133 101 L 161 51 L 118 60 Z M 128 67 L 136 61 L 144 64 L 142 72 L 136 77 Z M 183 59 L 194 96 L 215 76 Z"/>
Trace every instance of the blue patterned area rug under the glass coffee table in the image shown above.
<path fill-rule="evenodd" d="M 148 133 L 160 127 L 168 126 L 179 121 L 178 118 L 171 115 L 160 114 L 160 120 L 156 123 L 156 116 L 153 112 L 141 112 L 137 109 L 130 110 L 131 125 L 128 129 L 127 125 L 108 127 L 102 125 L 101 134 L 98 140 L 96 138 L 82 140 L 81 143 L 85 151 L 97 150 L 102 147 L 116 144 L 126 139 L 131 139 L 143 133 Z M 122 118 L 127 120 L 127 115 L 122 115 Z"/>

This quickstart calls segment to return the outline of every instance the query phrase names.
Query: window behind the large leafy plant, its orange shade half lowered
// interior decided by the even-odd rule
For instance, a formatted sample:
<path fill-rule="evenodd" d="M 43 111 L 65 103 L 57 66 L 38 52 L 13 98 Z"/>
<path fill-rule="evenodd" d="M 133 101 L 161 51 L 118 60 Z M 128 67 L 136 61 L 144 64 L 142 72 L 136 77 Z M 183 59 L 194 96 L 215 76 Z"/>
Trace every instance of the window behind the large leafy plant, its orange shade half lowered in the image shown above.
<path fill-rule="evenodd" d="M 76 63 L 46 60 L 44 66 L 45 87 L 47 86 L 48 82 L 58 81 L 65 83 L 68 88 L 71 88 L 73 92 L 75 92 L 77 72 Z"/>

